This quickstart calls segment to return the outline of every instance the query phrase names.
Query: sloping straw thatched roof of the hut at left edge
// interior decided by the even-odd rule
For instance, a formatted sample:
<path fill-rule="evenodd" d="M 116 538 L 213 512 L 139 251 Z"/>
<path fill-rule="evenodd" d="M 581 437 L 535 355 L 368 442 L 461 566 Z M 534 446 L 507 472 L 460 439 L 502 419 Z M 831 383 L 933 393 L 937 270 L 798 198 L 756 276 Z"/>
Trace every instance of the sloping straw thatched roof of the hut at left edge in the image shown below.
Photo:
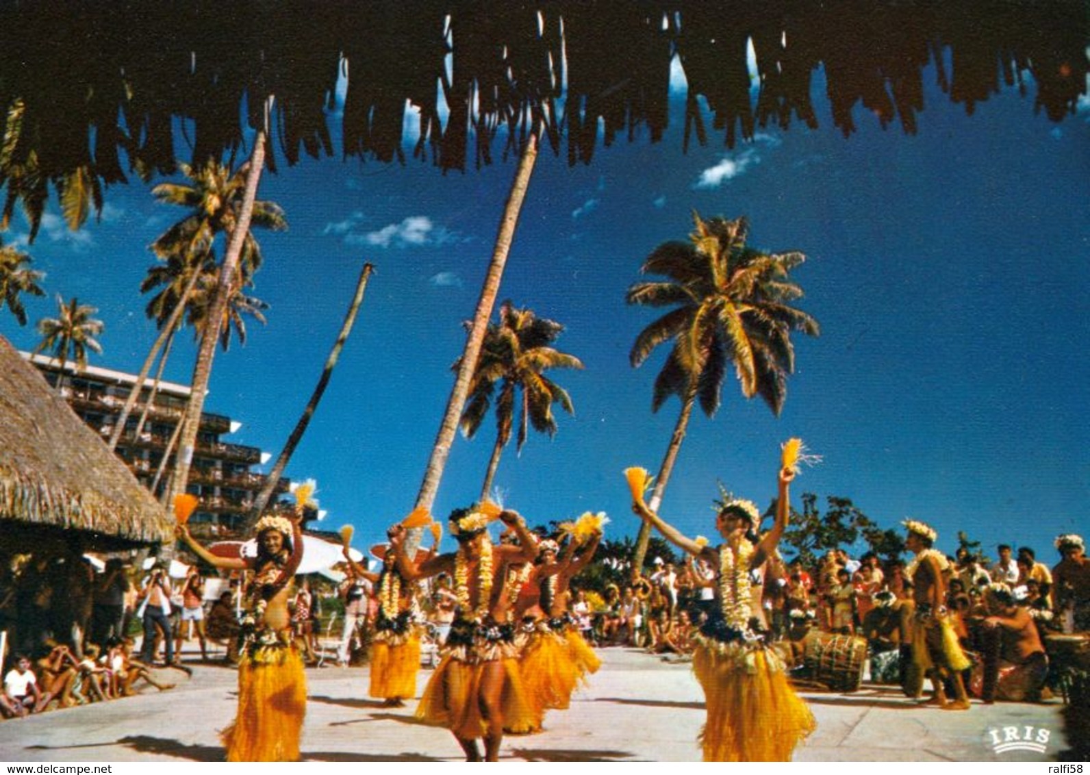
<path fill-rule="evenodd" d="M 12 521 L 107 542 L 173 538 L 155 498 L 0 337 L 0 525 Z"/>

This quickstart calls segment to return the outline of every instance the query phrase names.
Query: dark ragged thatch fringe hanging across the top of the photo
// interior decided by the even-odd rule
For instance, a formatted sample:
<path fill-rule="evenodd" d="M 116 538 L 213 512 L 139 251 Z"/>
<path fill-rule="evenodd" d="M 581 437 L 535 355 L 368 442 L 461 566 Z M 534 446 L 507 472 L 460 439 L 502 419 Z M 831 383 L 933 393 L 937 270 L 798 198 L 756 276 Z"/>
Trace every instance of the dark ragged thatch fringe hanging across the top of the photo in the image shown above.
<path fill-rule="evenodd" d="M 640 128 L 663 135 L 675 56 L 687 145 L 818 126 L 819 68 L 845 134 L 857 120 L 915 132 L 929 63 L 968 112 L 1017 87 L 1059 120 L 1087 92 L 1087 16 L 1082 0 L 9 0 L 0 184 L 24 175 L 5 209 L 39 206 L 48 181 L 100 201 L 132 171 L 174 170 L 179 119 L 196 165 L 241 149 L 270 95 L 289 164 L 336 153 L 335 134 L 346 156 L 402 159 L 409 105 L 413 153 L 443 169 L 488 164 L 497 138 L 506 154 L 536 125 L 554 150 L 567 141 L 571 162 L 590 161 Z"/>

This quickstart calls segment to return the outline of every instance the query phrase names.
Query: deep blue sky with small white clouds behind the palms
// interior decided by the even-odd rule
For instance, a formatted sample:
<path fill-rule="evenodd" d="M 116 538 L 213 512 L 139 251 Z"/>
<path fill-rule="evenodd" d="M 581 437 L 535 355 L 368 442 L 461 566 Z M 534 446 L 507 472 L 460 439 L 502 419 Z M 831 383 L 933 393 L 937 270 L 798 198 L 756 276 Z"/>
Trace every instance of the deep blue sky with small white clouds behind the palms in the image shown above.
<path fill-rule="evenodd" d="M 857 106 L 858 131 L 762 131 L 730 150 L 722 135 L 681 153 L 681 116 L 662 143 L 646 135 L 597 149 L 589 167 L 542 154 L 500 299 L 567 326 L 558 346 L 585 363 L 558 372 L 576 404 L 550 441 L 513 446 L 497 484 L 532 523 L 604 510 L 614 535 L 634 533 L 621 470 L 657 470 L 676 400 L 650 411 L 664 353 L 639 370 L 628 351 L 653 311 L 625 290 L 661 242 L 685 239 L 693 209 L 746 215 L 750 242 L 809 259 L 795 273 L 800 306 L 822 325 L 797 340 L 797 373 L 779 419 L 728 382 L 713 420 L 694 415 L 663 504 L 683 531 L 708 534 L 722 481 L 765 505 L 780 441 L 802 437 L 823 462 L 797 480 L 823 501 L 851 498 L 893 526 L 931 522 L 952 550 L 966 530 L 986 545 L 1034 546 L 1086 530 L 1090 496 L 1085 401 L 1090 106 L 1054 124 L 1032 88 L 1005 92 L 973 116 L 924 75 L 919 133 L 882 130 Z M 293 426 L 341 324 L 363 261 L 375 264 L 355 331 L 288 474 L 318 481 L 330 529 L 379 538 L 413 505 L 452 383 L 513 174 L 511 160 L 447 173 L 429 165 L 304 159 L 267 175 L 263 198 L 290 223 L 259 234 L 266 264 L 254 292 L 271 305 L 244 348 L 218 352 L 206 409 L 243 422 L 229 440 L 274 455 Z M 69 232 L 50 203 L 27 251 L 48 273 L 32 325 L 4 312 L 0 334 L 28 349 L 55 292 L 94 304 L 106 323 L 93 363 L 138 370 L 154 328 L 137 286 L 147 245 L 181 217 L 140 183 L 107 194 L 101 221 Z M 25 225 L 3 235 L 25 241 Z M 192 351 L 168 378 L 189 382 Z M 436 513 L 471 501 L 484 476 L 489 421 L 457 439 Z"/>

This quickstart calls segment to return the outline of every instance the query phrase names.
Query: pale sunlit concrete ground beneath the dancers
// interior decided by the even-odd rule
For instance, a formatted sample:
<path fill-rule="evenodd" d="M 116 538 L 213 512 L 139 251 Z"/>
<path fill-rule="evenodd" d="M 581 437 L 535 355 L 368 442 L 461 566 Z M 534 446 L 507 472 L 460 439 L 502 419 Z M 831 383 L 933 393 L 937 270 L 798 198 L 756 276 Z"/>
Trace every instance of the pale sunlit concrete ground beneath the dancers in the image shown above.
<path fill-rule="evenodd" d="M 546 729 L 504 742 L 508 761 L 699 761 L 700 687 L 686 664 L 605 649 L 603 668 Z M 108 703 L 0 722 L 0 760 L 16 762 L 222 761 L 216 730 L 234 716 L 235 673 L 190 663 L 179 686 Z M 420 689 L 431 671 L 421 670 Z M 416 724 L 415 701 L 386 709 L 366 698 L 366 668 L 307 670 L 303 755 L 310 761 L 444 761 L 461 758 L 445 729 Z M 796 761 L 1055 761 L 1066 748 L 1061 703 L 974 703 L 968 712 L 918 707 L 894 687 L 802 694 L 818 731 Z M 1046 751 L 995 753 L 991 729 L 1047 729 Z"/>

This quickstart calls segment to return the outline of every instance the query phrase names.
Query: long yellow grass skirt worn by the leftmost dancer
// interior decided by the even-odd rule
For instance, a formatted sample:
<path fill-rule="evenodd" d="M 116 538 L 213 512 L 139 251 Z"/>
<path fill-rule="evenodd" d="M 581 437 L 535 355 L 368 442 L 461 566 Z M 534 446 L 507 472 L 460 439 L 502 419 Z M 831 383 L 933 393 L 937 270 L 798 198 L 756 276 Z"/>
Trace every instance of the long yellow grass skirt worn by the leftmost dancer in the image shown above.
<path fill-rule="evenodd" d="M 298 762 L 306 713 L 306 675 L 294 646 L 243 653 L 239 711 L 220 734 L 229 762 Z"/>

